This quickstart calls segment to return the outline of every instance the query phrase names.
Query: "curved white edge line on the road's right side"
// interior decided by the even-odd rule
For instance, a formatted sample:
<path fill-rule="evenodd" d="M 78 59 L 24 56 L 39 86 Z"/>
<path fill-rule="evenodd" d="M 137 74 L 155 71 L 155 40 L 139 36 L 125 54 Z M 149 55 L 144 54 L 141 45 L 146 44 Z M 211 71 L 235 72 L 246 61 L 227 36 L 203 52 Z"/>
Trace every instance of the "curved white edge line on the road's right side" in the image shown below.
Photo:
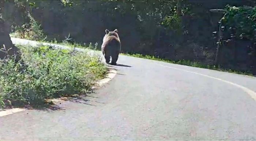
<path fill-rule="evenodd" d="M 156 63 L 153 63 L 153 64 L 156 64 Z M 208 76 L 208 75 L 202 74 L 202 73 L 187 71 L 187 70 L 185 70 L 185 69 L 179 69 L 179 68 L 175 68 L 175 67 L 169 67 L 169 66 L 161 65 L 161 64 L 157 64 L 157 65 L 160 65 L 160 66 L 162 66 L 162 67 L 177 69 L 177 70 L 180 70 L 180 71 L 190 72 L 190 73 L 198 74 L 198 75 L 201 75 L 201 76 L 213 78 L 213 79 L 216 79 L 216 80 L 219 80 L 219 81 L 222 81 L 222 82 L 226 82 L 226 83 L 228 83 L 228 84 L 231 84 L 231 85 L 234 85 L 234 86 L 236 86 L 236 87 L 238 87 L 238 88 L 241 88 L 242 90 L 244 90 L 244 92 L 246 92 L 247 94 L 249 94 L 249 95 L 253 98 L 253 100 L 256 101 L 256 92 L 254 92 L 253 90 L 251 90 L 251 89 L 249 89 L 249 88 L 246 88 L 246 87 L 244 87 L 244 86 L 238 85 L 238 84 L 236 84 L 236 83 L 233 83 L 233 82 L 230 82 L 230 81 L 226 81 L 226 80 L 223 80 L 223 79 L 221 79 L 221 78 L 217 78 L 217 77 L 213 77 L 213 76 Z"/>

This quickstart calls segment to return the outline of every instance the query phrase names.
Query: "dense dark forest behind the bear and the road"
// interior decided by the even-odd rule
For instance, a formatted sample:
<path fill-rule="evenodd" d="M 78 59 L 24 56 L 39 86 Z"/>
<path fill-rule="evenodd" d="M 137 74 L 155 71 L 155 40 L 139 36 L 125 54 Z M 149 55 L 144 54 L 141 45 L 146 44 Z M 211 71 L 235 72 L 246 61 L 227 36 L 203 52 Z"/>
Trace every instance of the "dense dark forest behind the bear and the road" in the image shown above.
<path fill-rule="evenodd" d="M 255 0 L 1 0 L 1 45 L 9 33 L 35 39 L 102 43 L 118 29 L 124 53 L 190 60 L 256 74 Z M 37 29 L 37 30 L 41 30 Z M 5 38 L 4 38 L 5 37 Z M 3 56 L 3 55 L 1 55 Z"/>

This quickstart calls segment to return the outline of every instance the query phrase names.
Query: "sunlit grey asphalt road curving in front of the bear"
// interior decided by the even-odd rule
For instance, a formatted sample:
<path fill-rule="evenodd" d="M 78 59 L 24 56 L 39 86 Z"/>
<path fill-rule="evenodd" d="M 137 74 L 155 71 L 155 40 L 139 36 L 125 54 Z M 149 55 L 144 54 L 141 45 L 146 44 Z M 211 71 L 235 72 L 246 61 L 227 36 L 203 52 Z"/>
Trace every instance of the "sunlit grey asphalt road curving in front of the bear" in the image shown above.
<path fill-rule="evenodd" d="M 256 78 L 120 56 L 117 75 L 55 109 L 0 117 L 0 140 L 256 140 Z"/>

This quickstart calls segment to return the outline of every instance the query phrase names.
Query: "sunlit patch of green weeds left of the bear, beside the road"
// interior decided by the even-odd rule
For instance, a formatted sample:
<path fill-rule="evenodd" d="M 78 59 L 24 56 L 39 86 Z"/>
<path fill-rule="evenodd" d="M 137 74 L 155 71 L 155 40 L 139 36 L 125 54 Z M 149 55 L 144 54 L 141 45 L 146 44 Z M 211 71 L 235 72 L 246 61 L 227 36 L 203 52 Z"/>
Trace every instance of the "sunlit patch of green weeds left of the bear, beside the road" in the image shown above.
<path fill-rule="evenodd" d="M 22 59 L 0 60 L 0 106 L 31 104 L 60 96 L 90 92 L 108 72 L 98 56 L 74 50 L 19 46 Z"/>

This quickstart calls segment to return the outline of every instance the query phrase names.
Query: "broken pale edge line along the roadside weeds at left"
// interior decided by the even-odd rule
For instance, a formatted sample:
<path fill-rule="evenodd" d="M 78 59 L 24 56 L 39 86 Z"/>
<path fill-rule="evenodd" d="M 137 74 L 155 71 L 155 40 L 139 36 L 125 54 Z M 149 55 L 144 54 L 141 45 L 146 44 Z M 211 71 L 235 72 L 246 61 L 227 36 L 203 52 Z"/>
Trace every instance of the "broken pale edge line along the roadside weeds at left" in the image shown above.
<path fill-rule="evenodd" d="M 97 84 L 100 86 L 102 86 L 103 84 L 109 82 L 110 80 L 112 80 L 117 74 L 117 71 L 113 68 L 110 68 L 109 69 L 109 73 L 107 74 L 106 78 L 102 79 L 102 80 L 99 80 L 97 82 Z M 95 89 L 97 88 L 98 86 L 93 86 L 92 89 Z M 52 101 L 54 102 L 59 102 L 59 101 L 62 101 L 61 99 L 52 99 Z M 14 108 L 14 109 L 7 109 L 7 110 L 3 110 L 3 111 L 0 111 L 0 117 L 3 117 L 3 116 L 7 116 L 9 114 L 14 114 L 14 113 L 17 113 L 17 112 L 22 112 L 22 111 L 25 111 L 27 109 L 23 109 L 23 108 Z"/>

